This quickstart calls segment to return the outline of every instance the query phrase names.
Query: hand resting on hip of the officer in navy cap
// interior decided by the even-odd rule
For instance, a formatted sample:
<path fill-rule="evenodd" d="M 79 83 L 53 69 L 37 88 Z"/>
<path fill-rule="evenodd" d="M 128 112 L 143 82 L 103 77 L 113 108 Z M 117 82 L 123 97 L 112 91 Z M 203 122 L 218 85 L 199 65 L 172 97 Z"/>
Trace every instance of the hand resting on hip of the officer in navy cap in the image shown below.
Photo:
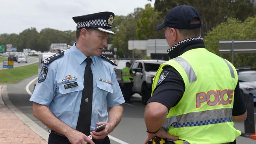
<path fill-rule="evenodd" d="M 154 139 L 155 137 L 160 137 L 160 138 L 167 138 L 169 140 L 178 140 L 178 137 L 169 135 L 167 131 L 165 131 L 163 128 L 159 129 L 159 131 L 156 134 L 150 134 L 147 133 L 148 137 L 146 138 L 144 144 L 147 144 L 149 140 Z"/>

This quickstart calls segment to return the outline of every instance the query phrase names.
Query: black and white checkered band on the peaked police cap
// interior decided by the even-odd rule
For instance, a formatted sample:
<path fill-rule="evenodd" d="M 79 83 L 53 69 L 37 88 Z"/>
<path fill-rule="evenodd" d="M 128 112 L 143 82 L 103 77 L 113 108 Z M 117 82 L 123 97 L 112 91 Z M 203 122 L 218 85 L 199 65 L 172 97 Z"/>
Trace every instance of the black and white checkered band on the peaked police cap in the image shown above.
<path fill-rule="evenodd" d="M 78 22 L 76 29 L 78 28 L 84 28 L 84 27 L 90 27 L 91 25 L 95 26 L 106 26 L 106 27 L 112 27 L 111 25 L 107 24 L 107 21 L 104 19 L 96 19 L 96 20 L 88 20 L 86 22 Z"/>

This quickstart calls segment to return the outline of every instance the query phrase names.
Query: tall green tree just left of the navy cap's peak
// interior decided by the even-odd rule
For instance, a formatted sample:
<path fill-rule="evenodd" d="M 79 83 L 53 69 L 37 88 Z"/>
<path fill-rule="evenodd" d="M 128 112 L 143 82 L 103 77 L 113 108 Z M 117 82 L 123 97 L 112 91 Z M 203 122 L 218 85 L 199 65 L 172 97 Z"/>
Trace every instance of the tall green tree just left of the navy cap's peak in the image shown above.
<path fill-rule="evenodd" d="M 141 18 L 137 22 L 137 37 L 139 40 L 164 39 L 163 31 L 156 31 L 156 26 L 163 22 L 158 11 L 154 11 L 151 4 L 147 4 L 142 10 Z"/>

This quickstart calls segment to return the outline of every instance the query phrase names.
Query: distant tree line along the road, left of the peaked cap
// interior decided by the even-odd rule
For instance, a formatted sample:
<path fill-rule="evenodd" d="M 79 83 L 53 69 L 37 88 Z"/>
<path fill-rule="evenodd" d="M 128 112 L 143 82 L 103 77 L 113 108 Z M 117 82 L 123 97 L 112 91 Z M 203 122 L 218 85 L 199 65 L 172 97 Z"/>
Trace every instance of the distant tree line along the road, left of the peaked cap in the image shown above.
<path fill-rule="evenodd" d="M 41 52 L 49 51 L 52 43 L 73 45 L 75 40 L 75 31 L 59 31 L 50 28 L 45 28 L 40 33 L 35 28 L 29 28 L 19 35 L 14 33 L 0 35 L 0 45 L 12 44 L 13 47 L 17 47 L 19 52 L 22 52 L 24 48 Z"/>

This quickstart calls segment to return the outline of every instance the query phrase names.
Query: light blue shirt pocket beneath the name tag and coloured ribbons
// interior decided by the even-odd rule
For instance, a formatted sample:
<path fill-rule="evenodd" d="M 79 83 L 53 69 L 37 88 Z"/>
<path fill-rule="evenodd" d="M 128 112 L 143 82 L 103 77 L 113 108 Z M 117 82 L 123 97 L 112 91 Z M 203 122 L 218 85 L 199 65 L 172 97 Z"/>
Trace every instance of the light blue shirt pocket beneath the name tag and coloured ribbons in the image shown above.
<path fill-rule="evenodd" d="M 65 83 L 58 85 L 59 93 L 61 94 L 59 97 L 59 102 L 62 102 L 63 111 L 67 112 L 79 112 L 80 107 L 77 105 L 80 103 L 78 98 L 81 98 L 79 95 L 82 95 L 83 90 L 83 81 L 77 81 L 78 86 L 72 87 L 69 89 L 65 89 Z"/>

